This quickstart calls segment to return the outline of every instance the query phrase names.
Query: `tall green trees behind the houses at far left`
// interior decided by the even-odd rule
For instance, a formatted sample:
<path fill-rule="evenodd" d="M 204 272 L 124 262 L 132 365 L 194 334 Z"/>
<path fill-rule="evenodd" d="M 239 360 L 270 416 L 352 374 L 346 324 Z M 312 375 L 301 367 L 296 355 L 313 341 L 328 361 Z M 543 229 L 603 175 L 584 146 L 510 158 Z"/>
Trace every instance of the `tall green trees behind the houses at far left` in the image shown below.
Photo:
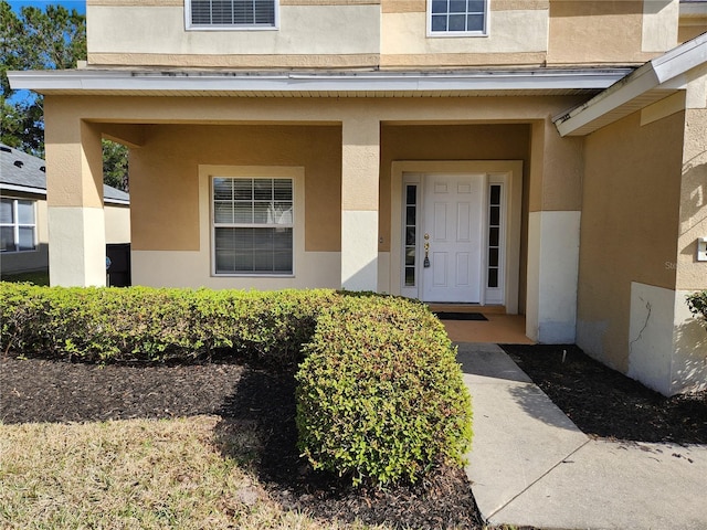
<path fill-rule="evenodd" d="M 44 108 L 41 95 L 12 91 L 10 70 L 70 70 L 86 59 L 86 18 L 75 9 L 48 4 L 44 10 L 24 7 L 18 14 L 0 1 L 0 84 L 3 144 L 44 156 Z M 127 187 L 127 149 L 104 145 L 104 173 L 109 186 Z M 115 186 L 116 183 L 120 186 Z M 125 183 L 125 186 L 124 186 Z"/>

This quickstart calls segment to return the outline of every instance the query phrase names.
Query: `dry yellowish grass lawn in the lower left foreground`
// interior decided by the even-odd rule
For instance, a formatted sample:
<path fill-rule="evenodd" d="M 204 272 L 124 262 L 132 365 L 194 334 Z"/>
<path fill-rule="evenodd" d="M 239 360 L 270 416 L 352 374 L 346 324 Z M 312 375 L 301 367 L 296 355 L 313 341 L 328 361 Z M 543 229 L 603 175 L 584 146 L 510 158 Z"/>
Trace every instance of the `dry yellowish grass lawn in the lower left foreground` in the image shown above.
<path fill-rule="evenodd" d="M 219 420 L 0 424 L 0 527 L 387 528 L 283 511 L 251 469 L 261 441 L 215 439 Z"/>

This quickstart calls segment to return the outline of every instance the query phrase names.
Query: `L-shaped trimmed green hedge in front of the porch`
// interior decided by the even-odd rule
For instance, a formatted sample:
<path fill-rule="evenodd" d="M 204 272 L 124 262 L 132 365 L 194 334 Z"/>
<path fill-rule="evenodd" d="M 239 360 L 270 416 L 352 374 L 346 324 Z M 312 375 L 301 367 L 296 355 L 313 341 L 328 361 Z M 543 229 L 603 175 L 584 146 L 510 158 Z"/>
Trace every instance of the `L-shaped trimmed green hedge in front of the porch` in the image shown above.
<path fill-rule="evenodd" d="M 354 484 L 414 481 L 460 464 L 471 399 L 425 306 L 334 290 L 62 288 L 0 283 L 0 343 L 13 354 L 190 361 L 228 354 L 297 378 L 299 446 Z M 303 360 L 304 359 L 304 360 Z"/>

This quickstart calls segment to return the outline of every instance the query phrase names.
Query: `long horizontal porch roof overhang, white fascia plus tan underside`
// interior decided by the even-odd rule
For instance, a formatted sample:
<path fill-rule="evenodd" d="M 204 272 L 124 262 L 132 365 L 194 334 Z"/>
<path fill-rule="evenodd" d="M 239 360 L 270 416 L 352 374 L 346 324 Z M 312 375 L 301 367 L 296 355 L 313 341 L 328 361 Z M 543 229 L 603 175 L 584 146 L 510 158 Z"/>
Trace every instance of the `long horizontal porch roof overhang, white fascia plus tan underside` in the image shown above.
<path fill-rule="evenodd" d="M 615 68 L 450 72 L 200 72 L 71 70 L 8 72 L 13 89 L 57 95 L 420 97 L 595 93 L 631 73 Z"/>

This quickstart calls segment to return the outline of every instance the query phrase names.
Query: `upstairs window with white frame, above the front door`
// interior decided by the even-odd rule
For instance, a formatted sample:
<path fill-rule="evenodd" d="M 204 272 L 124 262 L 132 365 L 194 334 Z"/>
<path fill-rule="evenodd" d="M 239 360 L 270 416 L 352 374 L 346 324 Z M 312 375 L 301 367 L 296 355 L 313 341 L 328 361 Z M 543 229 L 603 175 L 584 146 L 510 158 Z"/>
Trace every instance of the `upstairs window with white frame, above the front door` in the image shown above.
<path fill-rule="evenodd" d="M 428 0 L 428 34 L 485 35 L 488 0 Z"/>

